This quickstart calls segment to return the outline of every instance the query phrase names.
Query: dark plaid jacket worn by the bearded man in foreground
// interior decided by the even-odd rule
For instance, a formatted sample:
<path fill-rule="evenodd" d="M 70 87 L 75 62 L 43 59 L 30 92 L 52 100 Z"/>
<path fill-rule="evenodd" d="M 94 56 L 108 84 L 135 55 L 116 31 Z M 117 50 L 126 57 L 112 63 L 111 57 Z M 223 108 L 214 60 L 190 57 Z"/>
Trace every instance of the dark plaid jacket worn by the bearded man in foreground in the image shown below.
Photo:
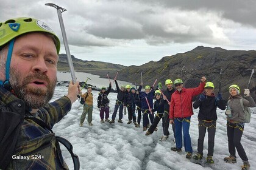
<path fill-rule="evenodd" d="M 63 169 L 62 165 L 68 169 L 62 156 L 57 154 L 55 134 L 52 134 L 48 129 L 44 129 L 34 121 L 26 119 L 26 115 L 32 115 L 26 110 L 23 101 L 2 87 L 0 87 L 0 108 L 4 108 L 0 109 L 0 118 L 2 118 L 2 120 L 0 119 L 0 123 L 2 123 L 0 147 L 2 143 L 6 142 L 4 141 L 6 138 L 2 137 L 3 134 L 9 134 L 10 129 L 12 129 L 12 123 L 10 123 L 12 122 L 12 117 L 9 117 L 9 115 L 21 115 L 21 118 L 25 115 L 24 121 L 20 126 L 15 150 L 6 169 Z M 44 121 L 52 128 L 55 123 L 62 120 L 70 109 L 71 101 L 68 97 L 62 97 L 46 104 L 33 116 Z M 5 117 L 9 118 L 10 122 L 6 122 L 8 119 Z M 9 148 L 5 148 L 4 152 L 11 151 Z"/>

